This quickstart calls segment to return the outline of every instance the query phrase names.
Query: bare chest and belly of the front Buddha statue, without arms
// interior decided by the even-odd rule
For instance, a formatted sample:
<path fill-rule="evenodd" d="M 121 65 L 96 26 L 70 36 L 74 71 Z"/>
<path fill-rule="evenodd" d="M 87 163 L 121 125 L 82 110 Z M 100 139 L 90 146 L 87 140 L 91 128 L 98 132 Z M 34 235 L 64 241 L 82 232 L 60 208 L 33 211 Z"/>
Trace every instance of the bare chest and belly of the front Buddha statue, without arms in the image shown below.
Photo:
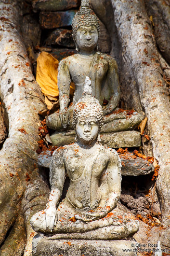
<path fill-rule="evenodd" d="M 101 199 L 99 181 L 109 160 L 106 149 L 100 145 L 92 154 L 84 154 L 76 144 L 70 147 L 65 163 L 70 178 L 67 198 L 76 208 L 93 209 Z"/>

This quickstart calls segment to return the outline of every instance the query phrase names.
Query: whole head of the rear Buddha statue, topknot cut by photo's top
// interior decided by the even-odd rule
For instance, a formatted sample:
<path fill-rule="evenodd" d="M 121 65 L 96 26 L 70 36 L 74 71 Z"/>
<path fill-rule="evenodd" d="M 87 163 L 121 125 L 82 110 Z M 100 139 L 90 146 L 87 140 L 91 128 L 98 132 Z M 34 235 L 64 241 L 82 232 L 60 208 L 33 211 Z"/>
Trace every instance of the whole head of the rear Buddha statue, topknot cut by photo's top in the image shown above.
<path fill-rule="evenodd" d="M 89 7 L 89 0 L 82 0 L 81 7 L 72 21 L 73 39 L 78 51 L 91 52 L 97 48 L 100 35 L 99 19 Z"/>

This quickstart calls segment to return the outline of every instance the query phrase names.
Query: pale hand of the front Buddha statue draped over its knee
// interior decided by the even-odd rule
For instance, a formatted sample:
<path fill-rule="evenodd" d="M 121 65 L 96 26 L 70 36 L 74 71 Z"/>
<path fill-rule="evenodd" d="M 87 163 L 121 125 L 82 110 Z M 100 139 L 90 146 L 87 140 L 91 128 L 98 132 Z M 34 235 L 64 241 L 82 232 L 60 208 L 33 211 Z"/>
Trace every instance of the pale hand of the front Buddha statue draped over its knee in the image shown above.
<path fill-rule="evenodd" d="M 49 207 L 45 213 L 46 227 L 52 232 L 58 220 L 57 210 L 55 207 Z"/>

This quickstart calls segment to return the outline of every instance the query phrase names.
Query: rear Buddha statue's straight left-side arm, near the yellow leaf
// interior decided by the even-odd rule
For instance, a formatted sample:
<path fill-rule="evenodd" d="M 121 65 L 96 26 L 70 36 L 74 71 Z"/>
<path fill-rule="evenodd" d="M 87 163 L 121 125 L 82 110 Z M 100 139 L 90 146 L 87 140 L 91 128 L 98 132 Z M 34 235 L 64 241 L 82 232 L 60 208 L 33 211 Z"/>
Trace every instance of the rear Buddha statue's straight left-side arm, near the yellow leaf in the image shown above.
<path fill-rule="evenodd" d="M 68 103 L 70 92 L 70 73 L 66 59 L 60 61 L 58 66 L 58 89 L 59 89 L 59 102 L 60 102 L 60 119 L 64 128 L 69 124 L 69 111 Z"/>

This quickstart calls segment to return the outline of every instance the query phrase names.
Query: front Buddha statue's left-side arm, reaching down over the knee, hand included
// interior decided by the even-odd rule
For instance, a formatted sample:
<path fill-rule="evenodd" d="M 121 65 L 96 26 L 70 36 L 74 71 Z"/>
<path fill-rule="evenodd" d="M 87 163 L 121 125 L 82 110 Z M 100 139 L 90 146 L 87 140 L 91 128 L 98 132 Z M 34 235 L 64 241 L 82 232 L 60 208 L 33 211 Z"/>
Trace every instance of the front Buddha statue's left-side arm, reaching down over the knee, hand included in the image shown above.
<path fill-rule="evenodd" d="M 65 165 L 62 152 L 55 153 L 50 164 L 51 192 L 46 208 L 46 227 L 51 230 L 57 222 L 56 205 L 58 204 L 65 181 Z"/>

